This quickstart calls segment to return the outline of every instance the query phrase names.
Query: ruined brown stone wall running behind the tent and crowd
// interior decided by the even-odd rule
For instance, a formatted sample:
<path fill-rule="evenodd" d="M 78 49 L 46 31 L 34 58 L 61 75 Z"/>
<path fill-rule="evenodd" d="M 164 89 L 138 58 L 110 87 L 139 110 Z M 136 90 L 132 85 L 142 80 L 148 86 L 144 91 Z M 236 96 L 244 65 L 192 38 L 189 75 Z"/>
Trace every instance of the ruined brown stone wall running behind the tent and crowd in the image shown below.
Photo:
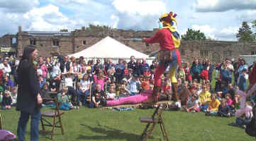
<path fill-rule="evenodd" d="M 35 39 L 40 56 L 55 56 L 57 53 L 63 55 L 74 54 L 96 44 L 109 35 L 119 42 L 126 44 L 137 51 L 149 54 L 159 49 L 159 44 L 145 44 L 143 37 L 151 37 L 157 30 L 133 31 L 133 30 L 74 30 L 67 36 L 31 36 L 28 32 L 20 31 L 17 35 L 4 35 L 0 38 L 2 44 L 11 44 L 11 37 L 17 37 L 17 54 L 21 55 L 23 47 L 30 44 L 30 39 Z M 54 46 L 53 41 L 57 40 L 59 46 Z M 179 51 L 182 61 L 192 61 L 195 56 L 200 59 L 208 58 L 213 62 L 222 59 L 237 59 L 239 55 L 250 55 L 256 51 L 255 42 L 223 42 L 223 41 L 182 41 Z"/>

